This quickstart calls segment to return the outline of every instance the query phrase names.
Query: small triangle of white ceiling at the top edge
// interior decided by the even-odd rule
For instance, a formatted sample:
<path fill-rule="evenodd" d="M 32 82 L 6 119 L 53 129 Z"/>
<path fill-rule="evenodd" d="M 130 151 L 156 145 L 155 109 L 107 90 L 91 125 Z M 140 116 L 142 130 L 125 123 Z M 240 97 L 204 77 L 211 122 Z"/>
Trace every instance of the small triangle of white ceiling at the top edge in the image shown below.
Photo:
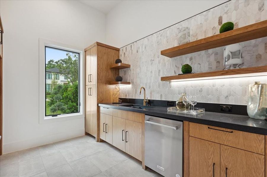
<path fill-rule="evenodd" d="M 81 3 L 91 6 L 104 14 L 107 14 L 113 7 L 119 4 L 119 0 L 79 0 Z"/>

